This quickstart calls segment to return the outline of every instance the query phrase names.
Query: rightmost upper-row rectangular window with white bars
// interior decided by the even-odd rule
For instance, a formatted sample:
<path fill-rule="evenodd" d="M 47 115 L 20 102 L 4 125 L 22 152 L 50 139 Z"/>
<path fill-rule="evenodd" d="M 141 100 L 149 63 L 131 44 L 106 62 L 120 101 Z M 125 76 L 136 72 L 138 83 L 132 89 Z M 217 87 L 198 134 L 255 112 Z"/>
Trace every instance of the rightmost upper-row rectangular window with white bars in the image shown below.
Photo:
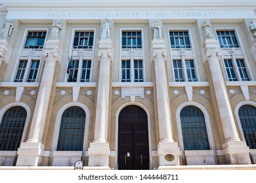
<path fill-rule="evenodd" d="M 239 48 L 234 31 L 217 31 L 221 48 Z"/>

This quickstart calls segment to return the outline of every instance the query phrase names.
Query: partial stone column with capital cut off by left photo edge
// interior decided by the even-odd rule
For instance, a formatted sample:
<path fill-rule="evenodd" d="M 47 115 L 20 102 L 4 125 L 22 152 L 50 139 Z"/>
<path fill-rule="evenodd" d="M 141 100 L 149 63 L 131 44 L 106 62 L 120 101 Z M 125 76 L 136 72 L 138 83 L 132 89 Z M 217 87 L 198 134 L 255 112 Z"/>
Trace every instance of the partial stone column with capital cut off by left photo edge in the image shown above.
<path fill-rule="evenodd" d="M 0 82 L 3 80 L 5 70 L 12 53 L 12 48 L 6 39 L 0 39 Z"/>

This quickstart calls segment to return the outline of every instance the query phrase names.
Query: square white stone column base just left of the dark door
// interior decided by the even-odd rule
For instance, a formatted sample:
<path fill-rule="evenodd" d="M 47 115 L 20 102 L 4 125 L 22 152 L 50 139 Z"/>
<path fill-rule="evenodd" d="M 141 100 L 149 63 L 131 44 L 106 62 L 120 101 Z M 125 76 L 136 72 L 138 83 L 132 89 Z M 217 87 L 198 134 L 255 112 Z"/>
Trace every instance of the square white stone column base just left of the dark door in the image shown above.
<path fill-rule="evenodd" d="M 108 142 L 91 142 L 88 155 L 89 167 L 107 167 L 109 165 L 110 144 Z"/>

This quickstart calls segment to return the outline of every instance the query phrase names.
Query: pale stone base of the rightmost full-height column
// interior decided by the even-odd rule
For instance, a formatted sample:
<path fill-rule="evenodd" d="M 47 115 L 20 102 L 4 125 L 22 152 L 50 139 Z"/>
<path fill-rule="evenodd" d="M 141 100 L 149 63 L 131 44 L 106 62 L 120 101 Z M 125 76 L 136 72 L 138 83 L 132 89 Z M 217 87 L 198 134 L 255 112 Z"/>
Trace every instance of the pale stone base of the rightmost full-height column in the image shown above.
<path fill-rule="evenodd" d="M 244 141 L 228 141 L 223 144 L 224 156 L 228 165 L 250 165 L 249 147 Z"/>

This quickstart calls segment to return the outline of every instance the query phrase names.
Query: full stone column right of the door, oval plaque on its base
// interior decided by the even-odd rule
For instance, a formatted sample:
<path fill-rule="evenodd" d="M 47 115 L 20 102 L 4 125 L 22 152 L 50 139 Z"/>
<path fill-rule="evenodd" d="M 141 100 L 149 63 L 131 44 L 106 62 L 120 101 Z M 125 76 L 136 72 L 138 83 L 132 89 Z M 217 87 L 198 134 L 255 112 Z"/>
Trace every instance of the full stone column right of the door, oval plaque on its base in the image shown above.
<path fill-rule="evenodd" d="M 165 70 L 166 54 L 165 41 L 163 39 L 154 39 L 152 41 L 152 60 L 154 61 L 156 76 L 156 101 L 160 131 L 158 161 L 160 166 L 180 164 L 180 150 L 177 142 L 173 141 L 173 129 L 171 127 L 169 88 Z M 167 156 L 172 157 L 171 160 Z"/>

